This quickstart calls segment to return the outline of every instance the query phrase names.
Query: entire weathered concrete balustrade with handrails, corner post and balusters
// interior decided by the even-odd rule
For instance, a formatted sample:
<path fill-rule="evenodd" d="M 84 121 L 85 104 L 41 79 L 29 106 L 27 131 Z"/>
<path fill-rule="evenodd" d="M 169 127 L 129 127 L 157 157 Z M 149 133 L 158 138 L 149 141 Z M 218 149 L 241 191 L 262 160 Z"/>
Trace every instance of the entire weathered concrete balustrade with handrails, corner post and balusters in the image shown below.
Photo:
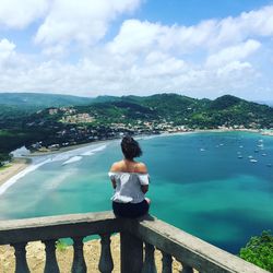
<path fill-rule="evenodd" d="M 163 273 L 171 272 L 173 258 L 181 262 L 182 273 L 198 272 L 266 272 L 251 263 L 221 250 L 181 229 L 150 215 L 139 219 L 116 218 L 111 212 L 72 214 L 0 222 L 0 245 L 15 249 L 15 272 L 29 272 L 26 262 L 26 244 L 41 240 L 46 247 L 45 272 L 58 273 L 56 241 L 73 239 L 73 264 L 71 272 L 86 272 L 83 256 L 83 238 L 99 235 L 102 251 L 99 272 L 110 273 L 114 262 L 110 252 L 110 236 L 120 233 L 121 273 L 154 273 L 154 250 L 163 254 Z M 144 248 L 143 248 L 144 245 Z"/>

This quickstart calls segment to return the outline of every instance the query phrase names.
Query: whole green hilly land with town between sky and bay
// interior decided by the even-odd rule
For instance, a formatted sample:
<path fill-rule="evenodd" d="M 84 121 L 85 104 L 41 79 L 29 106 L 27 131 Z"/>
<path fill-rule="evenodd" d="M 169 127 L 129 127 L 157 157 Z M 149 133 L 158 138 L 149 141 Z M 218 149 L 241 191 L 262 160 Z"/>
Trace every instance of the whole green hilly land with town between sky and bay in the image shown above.
<path fill-rule="evenodd" d="M 273 128 L 273 108 L 230 95 L 210 100 L 177 94 L 88 99 L 0 94 L 0 153 L 3 156 L 16 147 L 37 142 L 44 146 L 75 144 L 114 138 L 128 130 L 156 133 L 177 126 L 190 129 Z"/>

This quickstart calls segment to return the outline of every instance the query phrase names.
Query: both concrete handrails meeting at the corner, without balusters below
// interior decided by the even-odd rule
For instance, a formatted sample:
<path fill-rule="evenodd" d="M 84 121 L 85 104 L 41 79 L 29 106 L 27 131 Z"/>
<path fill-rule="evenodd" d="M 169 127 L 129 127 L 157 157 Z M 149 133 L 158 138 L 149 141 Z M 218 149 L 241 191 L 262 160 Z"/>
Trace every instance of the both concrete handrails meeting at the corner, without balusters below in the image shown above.
<path fill-rule="evenodd" d="M 133 235 L 202 273 L 268 272 L 150 215 L 124 219 L 116 218 L 111 212 L 99 212 L 1 221 L 0 245 L 119 232 Z"/>

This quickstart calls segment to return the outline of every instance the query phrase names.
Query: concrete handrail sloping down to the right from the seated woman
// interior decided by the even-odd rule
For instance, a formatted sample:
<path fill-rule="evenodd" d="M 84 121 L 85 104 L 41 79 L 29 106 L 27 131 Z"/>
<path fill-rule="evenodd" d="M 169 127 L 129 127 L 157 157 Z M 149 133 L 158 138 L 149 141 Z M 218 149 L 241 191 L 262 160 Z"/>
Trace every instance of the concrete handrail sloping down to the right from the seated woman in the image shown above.
<path fill-rule="evenodd" d="M 129 223 L 128 223 L 129 225 Z M 252 263 L 154 217 L 131 224 L 131 233 L 202 273 L 265 273 Z"/>

